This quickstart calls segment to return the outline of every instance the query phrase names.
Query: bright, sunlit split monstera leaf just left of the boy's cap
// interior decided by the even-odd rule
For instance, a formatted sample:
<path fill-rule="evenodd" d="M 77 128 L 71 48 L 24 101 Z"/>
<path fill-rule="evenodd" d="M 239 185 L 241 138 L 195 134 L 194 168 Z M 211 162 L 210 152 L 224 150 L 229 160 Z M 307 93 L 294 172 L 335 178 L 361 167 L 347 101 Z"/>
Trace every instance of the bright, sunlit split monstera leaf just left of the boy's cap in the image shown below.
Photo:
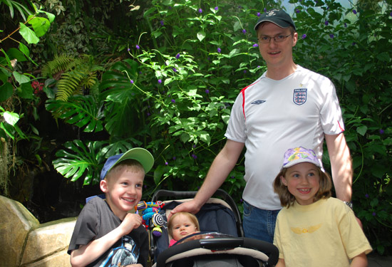
<path fill-rule="evenodd" d="M 102 141 L 86 144 L 81 140 L 66 142 L 66 149 L 56 152 L 58 158 L 53 160 L 53 166 L 63 177 L 71 178 L 72 182 L 84 176 L 83 185 L 91 182 L 98 184 L 101 164 L 105 160 L 101 152 L 104 144 Z"/>

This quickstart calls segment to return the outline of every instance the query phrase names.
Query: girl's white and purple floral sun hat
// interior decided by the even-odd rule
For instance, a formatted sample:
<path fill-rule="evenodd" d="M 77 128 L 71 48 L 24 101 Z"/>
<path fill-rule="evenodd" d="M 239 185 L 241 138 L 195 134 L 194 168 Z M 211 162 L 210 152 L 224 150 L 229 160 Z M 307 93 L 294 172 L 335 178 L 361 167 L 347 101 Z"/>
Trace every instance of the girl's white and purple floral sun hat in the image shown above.
<path fill-rule="evenodd" d="M 309 162 L 315 164 L 317 167 L 322 169 L 321 162 L 316 157 L 316 153 L 313 150 L 309 150 L 305 147 L 294 147 L 290 148 L 284 153 L 283 168 L 292 167 L 295 164 L 301 162 Z"/>

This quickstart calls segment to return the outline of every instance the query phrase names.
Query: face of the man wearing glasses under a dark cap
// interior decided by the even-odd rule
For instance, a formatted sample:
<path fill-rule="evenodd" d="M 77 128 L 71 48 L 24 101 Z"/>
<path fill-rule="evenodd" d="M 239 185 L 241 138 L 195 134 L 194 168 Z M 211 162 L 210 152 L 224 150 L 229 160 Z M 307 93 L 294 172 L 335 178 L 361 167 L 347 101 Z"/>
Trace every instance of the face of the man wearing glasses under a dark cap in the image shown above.
<path fill-rule="evenodd" d="M 262 37 L 287 36 L 282 42 L 269 40 L 269 43 L 259 42 L 259 51 L 262 58 L 267 63 L 267 68 L 283 68 L 291 66 L 292 48 L 296 45 L 298 39 L 297 33 L 291 33 L 289 28 L 280 28 L 272 22 L 264 22 L 257 28 L 257 38 Z"/>

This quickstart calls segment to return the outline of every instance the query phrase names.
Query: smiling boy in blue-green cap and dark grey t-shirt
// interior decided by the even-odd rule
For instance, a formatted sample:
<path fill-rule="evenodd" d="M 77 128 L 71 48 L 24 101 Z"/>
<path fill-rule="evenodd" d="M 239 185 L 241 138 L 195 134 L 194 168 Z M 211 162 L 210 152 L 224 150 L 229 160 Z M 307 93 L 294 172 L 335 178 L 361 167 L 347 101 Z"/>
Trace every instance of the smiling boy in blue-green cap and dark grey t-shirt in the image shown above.
<path fill-rule="evenodd" d="M 94 197 L 79 214 L 68 247 L 72 266 L 147 265 L 148 234 L 141 217 L 129 211 L 142 198 L 153 164 L 153 155 L 141 147 L 106 160 L 100 172 L 105 200 Z"/>

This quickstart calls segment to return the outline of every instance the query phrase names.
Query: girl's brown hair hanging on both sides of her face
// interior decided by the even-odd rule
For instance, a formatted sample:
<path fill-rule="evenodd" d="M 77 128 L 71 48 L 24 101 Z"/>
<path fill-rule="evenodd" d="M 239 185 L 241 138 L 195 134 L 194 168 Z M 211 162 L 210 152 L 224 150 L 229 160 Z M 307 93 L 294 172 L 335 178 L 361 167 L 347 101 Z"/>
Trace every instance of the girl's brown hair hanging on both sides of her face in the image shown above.
<path fill-rule="evenodd" d="M 316 165 L 314 165 L 316 166 Z M 331 188 L 332 188 L 332 182 L 331 182 L 331 177 L 329 176 L 328 173 L 323 172 L 319 167 L 317 167 L 317 170 L 319 172 L 319 191 L 314 195 L 313 201 L 316 202 L 320 199 L 328 199 L 331 197 Z M 287 186 L 285 186 L 282 183 L 282 179 L 280 177 L 284 177 L 286 175 L 288 168 L 282 168 L 277 175 L 277 177 L 274 179 L 274 192 L 279 195 L 280 199 L 280 204 L 282 206 L 286 206 L 289 208 L 292 206 L 295 202 L 295 197 L 292 195 L 292 193 L 289 192 L 289 189 Z"/>

